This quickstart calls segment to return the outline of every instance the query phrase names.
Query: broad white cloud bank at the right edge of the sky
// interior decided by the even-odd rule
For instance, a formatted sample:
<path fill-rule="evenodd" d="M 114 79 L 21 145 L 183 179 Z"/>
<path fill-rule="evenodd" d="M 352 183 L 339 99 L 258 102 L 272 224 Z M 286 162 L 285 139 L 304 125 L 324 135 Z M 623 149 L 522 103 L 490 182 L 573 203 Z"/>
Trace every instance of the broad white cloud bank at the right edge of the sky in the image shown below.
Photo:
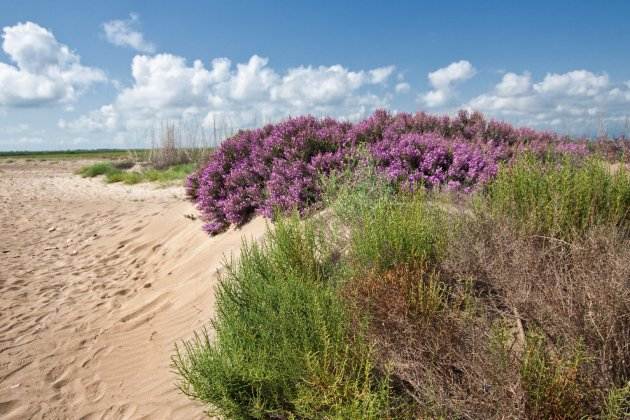
<path fill-rule="evenodd" d="M 614 125 L 630 115 L 630 86 L 614 86 L 607 74 L 587 70 L 548 73 L 538 82 L 529 73 L 506 73 L 492 91 L 474 97 L 466 107 L 526 125 L 588 131 L 589 126 Z"/>

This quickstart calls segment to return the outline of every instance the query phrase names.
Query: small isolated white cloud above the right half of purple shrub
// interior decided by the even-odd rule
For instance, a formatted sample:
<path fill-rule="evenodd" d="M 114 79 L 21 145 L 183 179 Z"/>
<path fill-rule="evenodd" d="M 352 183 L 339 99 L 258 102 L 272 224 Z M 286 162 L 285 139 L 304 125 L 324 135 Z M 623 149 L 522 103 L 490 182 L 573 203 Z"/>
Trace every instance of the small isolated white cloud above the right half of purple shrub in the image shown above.
<path fill-rule="evenodd" d="M 475 68 L 466 60 L 437 69 L 428 74 L 433 89 L 421 95 L 420 100 L 429 107 L 443 106 L 454 96 L 454 86 L 470 79 L 475 73 Z"/>

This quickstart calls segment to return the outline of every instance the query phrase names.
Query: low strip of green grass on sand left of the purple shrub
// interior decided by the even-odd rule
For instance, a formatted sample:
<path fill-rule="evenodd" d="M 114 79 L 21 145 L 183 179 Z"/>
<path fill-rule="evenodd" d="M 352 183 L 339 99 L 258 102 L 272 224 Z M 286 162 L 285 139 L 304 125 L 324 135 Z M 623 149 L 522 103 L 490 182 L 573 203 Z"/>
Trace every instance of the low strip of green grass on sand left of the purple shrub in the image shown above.
<path fill-rule="evenodd" d="M 196 168 L 194 163 L 171 166 L 166 169 L 143 169 L 141 171 L 126 171 L 118 169 L 116 163 L 100 162 L 84 166 L 77 171 L 83 177 L 105 175 L 105 182 L 122 182 L 133 185 L 141 182 L 155 182 L 168 184 L 186 178 Z"/>

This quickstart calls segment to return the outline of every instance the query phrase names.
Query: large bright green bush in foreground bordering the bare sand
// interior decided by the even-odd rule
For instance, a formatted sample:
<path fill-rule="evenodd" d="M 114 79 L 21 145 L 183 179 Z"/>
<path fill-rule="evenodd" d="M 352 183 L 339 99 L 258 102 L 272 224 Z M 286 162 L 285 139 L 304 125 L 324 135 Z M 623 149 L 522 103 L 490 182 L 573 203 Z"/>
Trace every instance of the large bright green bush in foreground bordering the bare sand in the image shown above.
<path fill-rule="evenodd" d="M 243 246 L 220 279 L 215 339 L 197 336 L 174 357 L 183 392 L 228 418 L 386 415 L 387 380 L 349 331 L 334 263 L 320 253 L 297 219 Z"/>

